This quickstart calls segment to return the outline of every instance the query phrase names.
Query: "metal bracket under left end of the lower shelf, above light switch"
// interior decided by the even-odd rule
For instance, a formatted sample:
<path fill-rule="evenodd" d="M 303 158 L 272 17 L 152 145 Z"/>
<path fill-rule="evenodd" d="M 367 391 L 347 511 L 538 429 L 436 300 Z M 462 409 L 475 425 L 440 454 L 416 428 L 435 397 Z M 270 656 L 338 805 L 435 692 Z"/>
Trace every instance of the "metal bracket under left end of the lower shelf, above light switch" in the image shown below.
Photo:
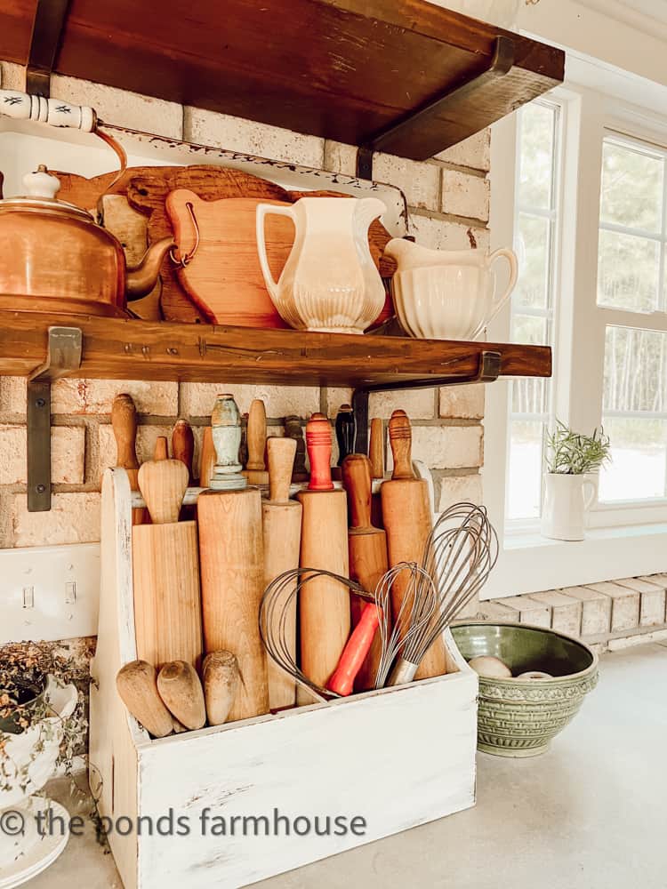
<path fill-rule="evenodd" d="M 44 364 L 28 378 L 28 512 L 51 509 L 51 384 L 81 366 L 83 333 L 50 327 Z"/>

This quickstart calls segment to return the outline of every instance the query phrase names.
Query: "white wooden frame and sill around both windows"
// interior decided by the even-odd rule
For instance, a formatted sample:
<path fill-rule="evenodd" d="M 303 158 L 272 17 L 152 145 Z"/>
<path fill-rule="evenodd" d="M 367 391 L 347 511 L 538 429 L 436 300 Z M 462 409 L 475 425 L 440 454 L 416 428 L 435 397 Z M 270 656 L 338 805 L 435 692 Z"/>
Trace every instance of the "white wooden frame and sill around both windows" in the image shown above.
<path fill-rule="evenodd" d="M 599 196 L 602 138 L 612 130 L 667 146 L 667 115 L 573 84 L 550 92 L 561 108 L 563 157 L 559 196 L 559 294 L 555 325 L 555 416 L 573 428 L 592 431 L 602 412 L 607 324 L 655 330 L 667 315 L 639 315 L 597 305 Z M 491 247 L 511 246 L 517 116 L 495 124 L 491 151 Z M 499 173 L 502 171 L 502 173 Z M 510 307 L 494 319 L 488 339 L 508 341 Z M 658 315 L 660 319 L 658 319 Z M 659 329 L 659 328 L 658 328 Z M 595 368 L 596 372 L 591 372 Z M 501 556 L 483 598 L 517 595 L 594 581 L 612 580 L 667 567 L 667 502 L 596 505 L 585 541 L 548 541 L 538 523 L 508 526 L 505 519 L 507 430 L 510 384 L 488 389 L 485 417 L 485 502 L 501 540 Z M 513 525 L 513 523 L 512 523 Z"/>

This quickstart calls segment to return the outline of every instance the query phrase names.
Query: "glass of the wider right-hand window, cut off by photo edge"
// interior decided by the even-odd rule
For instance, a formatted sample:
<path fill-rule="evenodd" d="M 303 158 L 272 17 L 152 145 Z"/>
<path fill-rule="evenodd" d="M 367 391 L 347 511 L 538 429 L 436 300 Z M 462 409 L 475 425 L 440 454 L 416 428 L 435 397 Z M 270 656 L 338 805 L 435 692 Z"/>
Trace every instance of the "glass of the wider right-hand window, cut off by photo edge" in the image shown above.
<path fill-rule="evenodd" d="M 602 421 L 614 459 L 600 473 L 599 500 L 664 499 L 667 151 L 615 133 L 602 148 L 597 301 L 605 316 L 612 309 L 645 323 L 648 316 L 658 328 L 605 325 Z"/>

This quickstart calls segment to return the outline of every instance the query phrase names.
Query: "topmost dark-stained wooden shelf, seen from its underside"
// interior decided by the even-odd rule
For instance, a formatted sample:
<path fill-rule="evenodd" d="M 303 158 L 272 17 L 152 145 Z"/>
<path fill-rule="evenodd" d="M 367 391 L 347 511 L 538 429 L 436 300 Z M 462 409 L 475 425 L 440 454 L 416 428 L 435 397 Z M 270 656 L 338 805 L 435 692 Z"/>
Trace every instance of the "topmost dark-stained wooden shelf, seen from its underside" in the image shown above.
<path fill-rule="evenodd" d="M 32 56 L 55 53 L 60 74 L 418 160 L 564 76 L 561 50 L 424 0 L 53 7 L 68 9 L 62 33 L 57 12 L 57 25 L 44 15 Z M 28 62 L 36 8 L 36 0 L 2 5 L 0 58 Z"/>

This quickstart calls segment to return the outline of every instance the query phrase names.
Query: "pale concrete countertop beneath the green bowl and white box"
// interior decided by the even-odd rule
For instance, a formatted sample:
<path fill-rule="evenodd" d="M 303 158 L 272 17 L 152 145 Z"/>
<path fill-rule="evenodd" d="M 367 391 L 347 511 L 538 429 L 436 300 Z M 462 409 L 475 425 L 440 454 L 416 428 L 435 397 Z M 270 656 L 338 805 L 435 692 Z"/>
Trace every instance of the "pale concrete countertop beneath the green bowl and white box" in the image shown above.
<path fill-rule="evenodd" d="M 665 889 L 667 644 L 607 654 L 600 672 L 597 690 L 547 754 L 478 754 L 474 808 L 255 886 Z M 54 796 L 74 813 L 62 790 Z M 92 829 L 70 838 L 60 860 L 26 885 L 121 886 Z"/>

